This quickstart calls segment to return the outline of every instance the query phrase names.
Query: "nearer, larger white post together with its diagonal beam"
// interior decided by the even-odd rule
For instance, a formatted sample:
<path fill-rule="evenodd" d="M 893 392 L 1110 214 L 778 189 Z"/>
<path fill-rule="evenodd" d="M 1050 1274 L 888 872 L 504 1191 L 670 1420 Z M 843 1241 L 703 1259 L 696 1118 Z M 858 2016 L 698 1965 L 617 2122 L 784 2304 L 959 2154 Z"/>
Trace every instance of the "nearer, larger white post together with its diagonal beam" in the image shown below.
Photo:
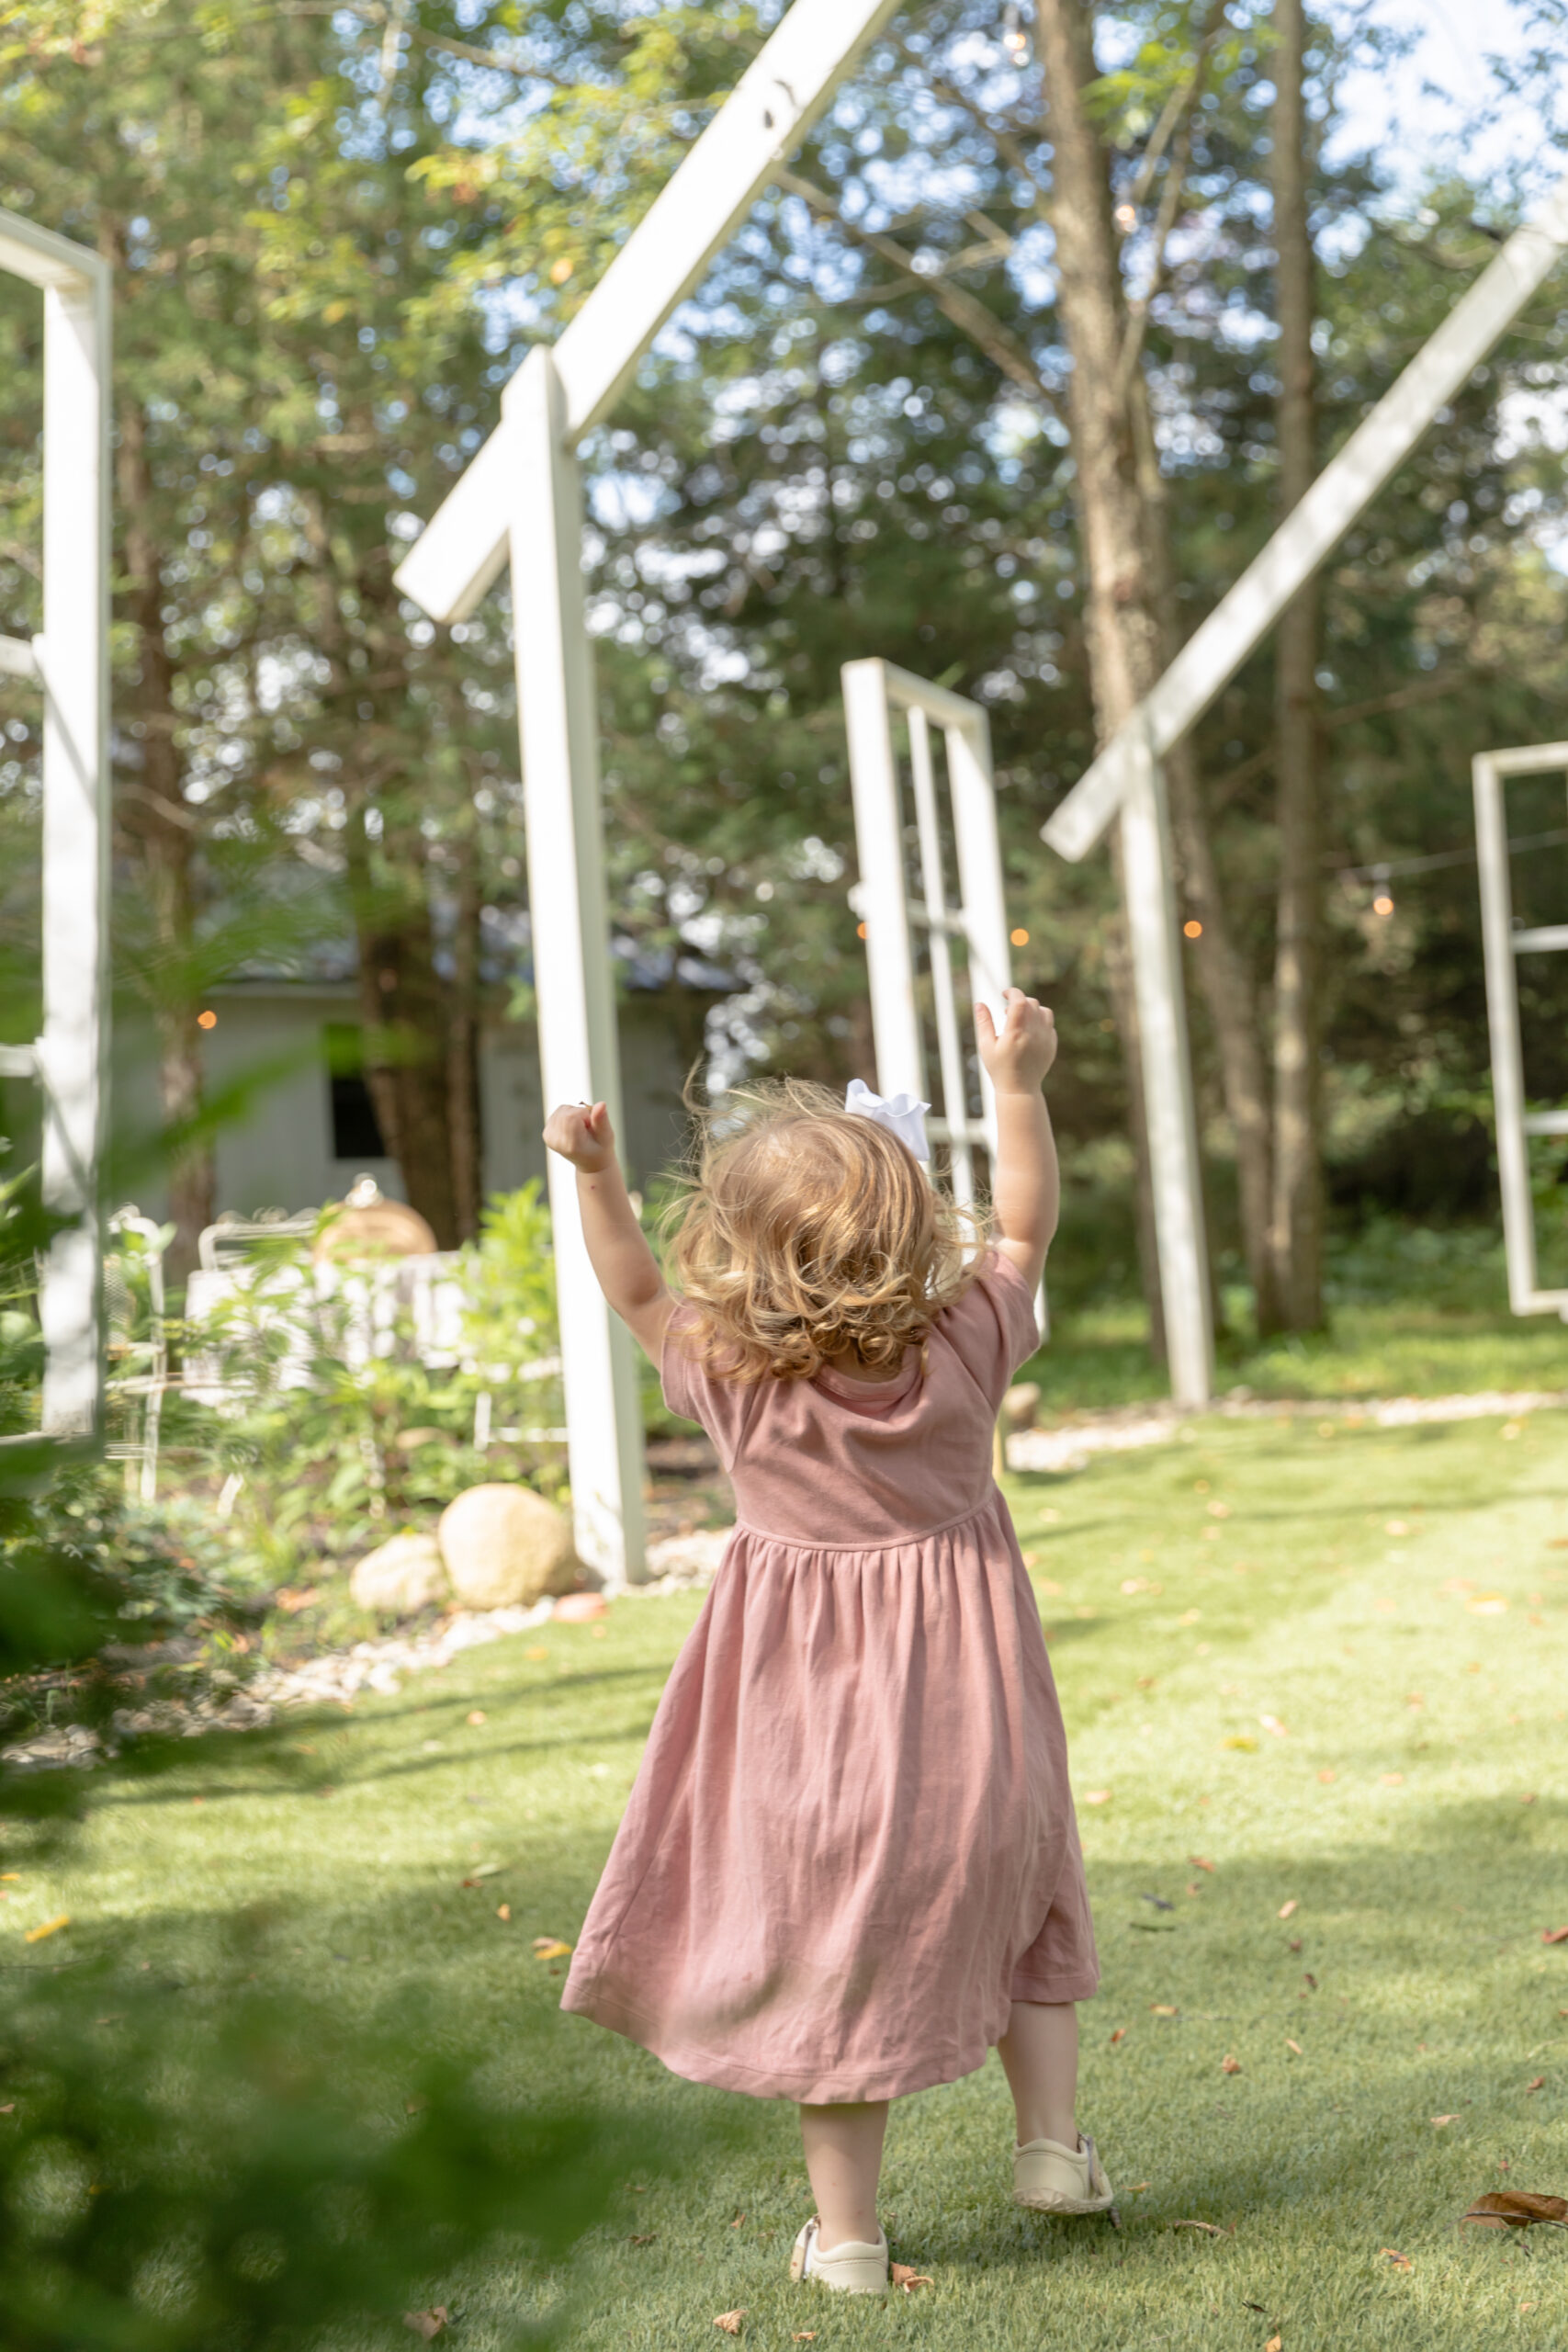
<path fill-rule="evenodd" d="M 550 1101 L 621 1098 L 576 442 L 616 405 L 896 0 L 795 0 L 559 341 L 529 355 L 484 442 L 397 572 L 461 621 L 512 564 L 538 1044 Z M 550 1160 L 576 1543 L 611 1583 L 642 1557 L 632 1345 L 588 1268 L 576 1181 Z"/>

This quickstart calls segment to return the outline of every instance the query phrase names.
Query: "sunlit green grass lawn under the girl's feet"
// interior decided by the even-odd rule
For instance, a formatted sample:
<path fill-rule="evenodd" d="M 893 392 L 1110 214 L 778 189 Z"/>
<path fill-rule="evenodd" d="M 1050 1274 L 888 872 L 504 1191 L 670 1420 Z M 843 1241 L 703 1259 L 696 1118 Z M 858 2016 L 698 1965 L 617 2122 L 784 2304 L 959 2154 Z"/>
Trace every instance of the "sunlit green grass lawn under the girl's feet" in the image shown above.
<path fill-rule="evenodd" d="M 1013 2209 L 992 2060 L 893 2114 L 886 2225 L 936 2284 L 886 2307 L 790 2288 L 792 2110 L 552 2013 L 559 1962 L 531 1938 L 578 1929 L 696 1599 L 301 1719 L 275 1743 L 296 1778 L 244 1740 L 96 1773 L 80 1844 L 12 1884 L 0 1959 L 68 1910 L 28 1959 L 101 1952 L 193 2009 L 256 1978 L 353 2018 L 414 1976 L 433 2037 L 489 2044 L 517 2093 L 642 2105 L 670 2154 L 574 2265 L 574 2343 L 604 2352 L 722 2343 L 736 2307 L 766 2347 L 1563 2345 L 1563 2239 L 1530 2260 L 1455 2223 L 1483 2190 L 1568 2192 L 1568 1945 L 1542 1945 L 1568 1922 L 1568 1416 L 1197 1423 L 1011 1494 L 1100 1929 L 1081 2119 L 1119 2234 Z M 435 2284 L 454 2347 L 559 2286 Z"/>

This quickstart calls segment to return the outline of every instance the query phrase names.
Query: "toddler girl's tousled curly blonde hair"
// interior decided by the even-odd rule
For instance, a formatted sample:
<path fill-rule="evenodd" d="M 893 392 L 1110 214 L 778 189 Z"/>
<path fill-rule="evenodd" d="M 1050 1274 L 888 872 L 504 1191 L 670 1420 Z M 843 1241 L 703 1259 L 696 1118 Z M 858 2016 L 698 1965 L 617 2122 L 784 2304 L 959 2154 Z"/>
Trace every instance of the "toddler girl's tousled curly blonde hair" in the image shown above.
<path fill-rule="evenodd" d="M 736 1087 L 698 1122 L 670 1256 L 682 1343 L 724 1378 L 809 1381 L 851 1350 L 893 1374 L 980 1270 L 980 1218 L 825 1087 Z"/>

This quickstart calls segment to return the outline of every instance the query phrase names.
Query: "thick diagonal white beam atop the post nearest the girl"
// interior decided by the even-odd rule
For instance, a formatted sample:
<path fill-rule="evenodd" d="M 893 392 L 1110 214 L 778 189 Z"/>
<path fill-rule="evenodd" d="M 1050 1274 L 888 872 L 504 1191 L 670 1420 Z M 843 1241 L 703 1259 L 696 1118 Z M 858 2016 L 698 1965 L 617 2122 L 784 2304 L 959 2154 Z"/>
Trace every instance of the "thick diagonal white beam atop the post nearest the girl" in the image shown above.
<path fill-rule="evenodd" d="M 896 0 L 795 0 L 679 169 L 555 343 L 562 433 L 583 437 L 616 405 L 644 350 L 788 162 Z M 520 376 L 491 433 L 397 569 L 437 621 L 475 609 L 505 562 L 503 437 Z"/>

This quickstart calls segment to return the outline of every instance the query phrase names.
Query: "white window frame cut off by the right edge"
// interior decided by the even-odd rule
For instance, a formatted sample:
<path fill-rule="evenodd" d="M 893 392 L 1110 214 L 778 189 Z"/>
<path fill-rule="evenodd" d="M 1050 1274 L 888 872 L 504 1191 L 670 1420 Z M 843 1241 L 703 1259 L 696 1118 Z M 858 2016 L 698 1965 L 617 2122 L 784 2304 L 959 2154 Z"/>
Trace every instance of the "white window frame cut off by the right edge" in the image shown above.
<path fill-rule="evenodd" d="M 1493 1040 L 1493 1108 L 1497 1120 L 1497 1181 L 1502 1188 L 1502 1247 L 1514 1315 L 1561 1315 L 1568 1291 L 1542 1291 L 1535 1279 L 1535 1202 L 1530 1197 L 1530 1136 L 1568 1136 L 1566 1110 L 1526 1110 L 1519 1042 L 1519 957 L 1568 948 L 1568 922 L 1514 929 L 1509 882 L 1509 776 L 1568 774 L 1568 743 L 1483 750 L 1472 762 L 1476 790 L 1476 866 L 1481 870 L 1481 941 L 1486 946 L 1486 1021 Z"/>

